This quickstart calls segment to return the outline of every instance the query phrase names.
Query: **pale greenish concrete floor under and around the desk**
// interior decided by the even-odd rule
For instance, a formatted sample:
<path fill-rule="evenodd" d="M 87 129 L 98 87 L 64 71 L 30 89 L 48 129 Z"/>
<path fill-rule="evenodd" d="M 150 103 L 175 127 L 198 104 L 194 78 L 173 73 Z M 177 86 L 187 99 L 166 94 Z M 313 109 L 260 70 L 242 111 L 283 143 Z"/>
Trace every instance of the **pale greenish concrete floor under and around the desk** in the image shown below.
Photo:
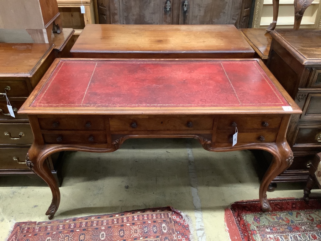
<path fill-rule="evenodd" d="M 256 164 L 250 151 L 208 152 L 194 139 L 131 139 L 114 153 L 68 152 L 55 219 L 172 206 L 193 220 L 195 241 L 228 240 L 224 209 L 258 199 Z M 302 189 L 279 184 L 268 198 L 302 197 Z M 51 192 L 42 180 L 0 177 L 0 193 L 0 241 L 12 220 L 48 220 Z"/>

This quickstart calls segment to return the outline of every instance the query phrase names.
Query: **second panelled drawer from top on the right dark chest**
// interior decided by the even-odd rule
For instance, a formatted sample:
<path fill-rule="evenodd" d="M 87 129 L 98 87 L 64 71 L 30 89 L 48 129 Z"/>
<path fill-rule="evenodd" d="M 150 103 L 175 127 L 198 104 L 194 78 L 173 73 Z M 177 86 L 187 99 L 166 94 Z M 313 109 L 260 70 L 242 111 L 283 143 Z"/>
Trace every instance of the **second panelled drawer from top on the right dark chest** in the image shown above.
<path fill-rule="evenodd" d="M 309 89 L 307 89 L 306 91 L 309 91 Z M 317 93 L 306 93 L 305 95 L 303 95 L 304 92 L 300 91 L 300 94 L 302 94 L 302 96 L 306 98 L 304 106 L 302 108 L 301 120 L 302 121 L 320 121 L 321 120 L 321 90 L 317 90 Z"/>

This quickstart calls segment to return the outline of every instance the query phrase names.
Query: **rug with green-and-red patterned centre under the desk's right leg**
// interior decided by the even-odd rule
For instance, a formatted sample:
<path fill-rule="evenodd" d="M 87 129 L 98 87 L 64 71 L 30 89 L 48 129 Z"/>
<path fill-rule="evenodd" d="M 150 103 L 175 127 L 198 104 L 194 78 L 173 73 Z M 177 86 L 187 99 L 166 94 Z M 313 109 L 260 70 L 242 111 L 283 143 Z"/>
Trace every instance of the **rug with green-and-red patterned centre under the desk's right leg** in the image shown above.
<path fill-rule="evenodd" d="M 240 201 L 225 210 L 225 225 L 231 240 L 309 241 L 321 240 L 321 200 L 269 200 L 272 212 L 262 212 L 258 200 Z"/>

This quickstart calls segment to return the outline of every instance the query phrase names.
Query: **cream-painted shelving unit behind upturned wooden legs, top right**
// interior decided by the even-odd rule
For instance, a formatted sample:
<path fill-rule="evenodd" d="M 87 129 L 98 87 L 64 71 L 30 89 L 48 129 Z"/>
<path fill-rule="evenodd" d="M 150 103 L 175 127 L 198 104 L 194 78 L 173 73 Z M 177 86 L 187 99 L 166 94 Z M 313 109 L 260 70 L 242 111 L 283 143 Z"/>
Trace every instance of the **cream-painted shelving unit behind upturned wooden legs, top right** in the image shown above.
<path fill-rule="evenodd" d="M 273 19 L 272 0 L 256 0 L 253 16 L 253 28 L 267 28 Z M 293 28 L 294 4 L 293 0 L 280 0 L 279 14 L 276 28 Z M 305 11 L 300 28 L 320 28 L 320 1 L 314 0 Z"/>

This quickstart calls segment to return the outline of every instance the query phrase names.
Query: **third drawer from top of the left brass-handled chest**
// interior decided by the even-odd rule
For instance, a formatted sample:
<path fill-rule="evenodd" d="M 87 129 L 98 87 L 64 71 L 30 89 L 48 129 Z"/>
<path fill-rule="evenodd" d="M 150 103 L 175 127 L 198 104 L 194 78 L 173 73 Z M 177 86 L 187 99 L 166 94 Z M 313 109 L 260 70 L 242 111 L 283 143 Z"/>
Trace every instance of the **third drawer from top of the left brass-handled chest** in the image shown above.
<path fill-rule="evenodd" d="M 31 145 L 33 135 L 29 123 L 0 124 L 0 144 Z"/>

